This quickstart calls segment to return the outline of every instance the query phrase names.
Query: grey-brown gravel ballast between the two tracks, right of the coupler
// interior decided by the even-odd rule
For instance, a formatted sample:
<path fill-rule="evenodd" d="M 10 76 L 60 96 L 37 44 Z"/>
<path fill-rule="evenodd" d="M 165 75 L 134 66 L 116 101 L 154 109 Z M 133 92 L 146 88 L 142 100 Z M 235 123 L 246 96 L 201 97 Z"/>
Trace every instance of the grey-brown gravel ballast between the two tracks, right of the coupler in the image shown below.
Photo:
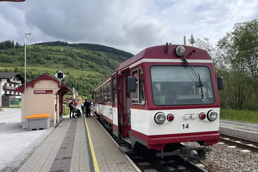
<path fill-rule="evenodd" d="M 187 146 L 200 146 L 196 142 L 185 142 Z M 229 148 L 228 144 L 214 144 L 210 146 L 212 152 L 206 154 L 206 160 L 201 160 L 211 172 L 258 172 L 258 153 L 241 152 L 242 148 Z M 193 161 L 193 163 L 197 163 Z"/>

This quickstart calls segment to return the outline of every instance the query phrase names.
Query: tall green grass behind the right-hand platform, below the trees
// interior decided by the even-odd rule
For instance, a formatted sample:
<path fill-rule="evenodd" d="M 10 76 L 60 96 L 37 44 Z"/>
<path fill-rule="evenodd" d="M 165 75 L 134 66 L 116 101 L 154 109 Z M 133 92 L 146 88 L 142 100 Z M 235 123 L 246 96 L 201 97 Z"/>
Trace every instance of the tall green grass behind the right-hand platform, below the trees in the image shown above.
<path fill-rule="evenodd" d="M 258 112 L 220 108 L 220 119 L 258 123 Z"/>

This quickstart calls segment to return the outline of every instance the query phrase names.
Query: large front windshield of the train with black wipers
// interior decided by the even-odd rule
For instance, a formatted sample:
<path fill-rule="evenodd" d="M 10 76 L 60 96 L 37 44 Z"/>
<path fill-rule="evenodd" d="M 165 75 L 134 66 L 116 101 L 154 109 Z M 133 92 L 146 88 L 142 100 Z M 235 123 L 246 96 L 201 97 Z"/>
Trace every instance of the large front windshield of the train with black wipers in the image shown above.
<path fill-rule="evenodd" d="M 192 66 L 203 87 L 196 87 L 186 66 L 152 66 L 151 86 L 154 104 L 185 105 L 214 103 L 211 72 L 206 66 Z M 203 96 L 202 91 L 203 89 Z"/>

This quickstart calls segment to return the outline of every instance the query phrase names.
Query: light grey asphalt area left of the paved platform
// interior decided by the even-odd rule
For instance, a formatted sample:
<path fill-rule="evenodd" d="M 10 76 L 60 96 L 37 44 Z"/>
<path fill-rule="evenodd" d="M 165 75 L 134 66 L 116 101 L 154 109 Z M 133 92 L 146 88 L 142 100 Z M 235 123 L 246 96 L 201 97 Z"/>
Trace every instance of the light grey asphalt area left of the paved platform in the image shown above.
<path fill-rule="evenodd" d="M 27 131 L 22 129 L 21 108 L 0 112 L 0 171 L 11 172 L 54 129 Z"/>

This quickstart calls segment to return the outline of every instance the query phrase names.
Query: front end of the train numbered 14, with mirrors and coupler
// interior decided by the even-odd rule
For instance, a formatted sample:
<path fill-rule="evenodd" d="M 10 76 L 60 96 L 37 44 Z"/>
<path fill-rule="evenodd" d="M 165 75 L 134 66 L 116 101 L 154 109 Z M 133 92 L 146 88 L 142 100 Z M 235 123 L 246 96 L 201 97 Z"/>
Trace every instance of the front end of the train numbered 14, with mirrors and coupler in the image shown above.
<path fill-rule="evenodd" d="M 187 45 L 156 46 L 146 51 L 139 66 L 146 101 L 145 106 L 131 107 L 132 137 L 156 149 L 159 157 L 205 159 L 209 146 L 220 138 L 217 90 L 223 89 L 223 79 L 214 73 L 212 58 L 206 50 Z M 132 92 L 134 77 L 128 77 Z"/>

